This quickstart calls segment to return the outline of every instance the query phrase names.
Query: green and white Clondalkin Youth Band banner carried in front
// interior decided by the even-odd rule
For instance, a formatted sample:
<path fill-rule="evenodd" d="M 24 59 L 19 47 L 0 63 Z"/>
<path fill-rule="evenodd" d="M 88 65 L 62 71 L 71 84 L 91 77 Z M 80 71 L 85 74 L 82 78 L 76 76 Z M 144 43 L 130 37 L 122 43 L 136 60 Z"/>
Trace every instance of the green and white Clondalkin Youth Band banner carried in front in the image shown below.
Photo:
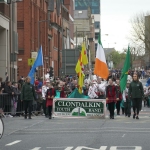
<path fill-rule="evenodd" d="M 53 117 L 103 117 L 104 99 L 58 98 L 53 101 Z"/>

